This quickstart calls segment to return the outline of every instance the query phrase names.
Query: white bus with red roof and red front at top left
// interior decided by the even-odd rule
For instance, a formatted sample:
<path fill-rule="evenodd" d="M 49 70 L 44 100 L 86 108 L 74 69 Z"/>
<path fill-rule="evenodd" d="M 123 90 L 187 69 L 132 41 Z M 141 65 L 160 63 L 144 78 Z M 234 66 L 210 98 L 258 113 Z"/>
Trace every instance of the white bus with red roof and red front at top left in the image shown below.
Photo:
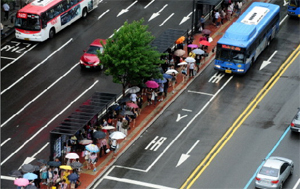
<path fill-rule="evenodd" d="M 16 38 L 45 41 L 97 8 L 99 0 L 35 0 L 17 12 Z"/>

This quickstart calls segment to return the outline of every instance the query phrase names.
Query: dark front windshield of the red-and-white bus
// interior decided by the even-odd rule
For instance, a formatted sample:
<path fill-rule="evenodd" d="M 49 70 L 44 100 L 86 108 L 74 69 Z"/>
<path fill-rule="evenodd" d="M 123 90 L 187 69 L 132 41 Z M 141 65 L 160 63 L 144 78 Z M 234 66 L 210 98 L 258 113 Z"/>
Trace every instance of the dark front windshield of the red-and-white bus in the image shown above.
<path fill-rule="evenodd" d="M 22 17 L 17 16 L 15 21 L 15 27 L 23 30 L 31 30 L 31 31 L 40 31 L 41 23 L 40 17 L 38 15 L 22 15 Z"/>

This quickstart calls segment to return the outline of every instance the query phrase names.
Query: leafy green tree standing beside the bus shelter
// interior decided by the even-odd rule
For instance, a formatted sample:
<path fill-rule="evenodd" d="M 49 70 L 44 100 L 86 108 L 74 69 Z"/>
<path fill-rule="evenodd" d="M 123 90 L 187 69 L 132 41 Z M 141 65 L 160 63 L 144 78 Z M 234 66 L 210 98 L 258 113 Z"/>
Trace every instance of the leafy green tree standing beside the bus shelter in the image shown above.
<path fill-rule="evenodd" d="M 128 24 L 126 21 L 119 31 L 102 44 L 104 52 L 98 52 L 105 74 L 113 77 L 114 83 L 120 83 L 125 89 L 129 85 L 138 85 L 150 78 L 162 78 L 159 66 L 161 54 L 150 46 L 154 36 L 143 25 L 144 20 Z"/>

